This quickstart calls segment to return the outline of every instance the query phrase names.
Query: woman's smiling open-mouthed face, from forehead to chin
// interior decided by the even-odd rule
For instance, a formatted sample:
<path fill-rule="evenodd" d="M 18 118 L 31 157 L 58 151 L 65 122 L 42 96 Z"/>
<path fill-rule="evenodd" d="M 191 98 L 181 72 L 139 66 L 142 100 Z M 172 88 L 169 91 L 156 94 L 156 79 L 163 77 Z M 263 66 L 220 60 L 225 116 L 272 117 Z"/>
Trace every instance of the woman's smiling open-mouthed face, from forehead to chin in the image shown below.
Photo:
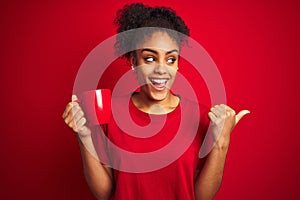
<path fill-rule="evenodd" d="M 164 100 L 170 92 L 178 69 L 179 47 L 166 32 L 147 37 L 131 57 L 141 92 L 151 100 Z"/>

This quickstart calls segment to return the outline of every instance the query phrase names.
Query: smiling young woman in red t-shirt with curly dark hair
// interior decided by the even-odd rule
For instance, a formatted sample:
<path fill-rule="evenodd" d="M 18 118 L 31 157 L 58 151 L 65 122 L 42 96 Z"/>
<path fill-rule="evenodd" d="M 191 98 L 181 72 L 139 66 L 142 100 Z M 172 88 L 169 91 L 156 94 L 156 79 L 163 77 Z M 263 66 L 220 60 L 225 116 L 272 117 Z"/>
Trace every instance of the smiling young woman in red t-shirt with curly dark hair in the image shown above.
<path fill-rule="evenodd" d="M 73 95 L 63 118 L 81 138 L 79 144 L 84 173 L 91 190 L 97 199 L 212 199 L 221 185 L 231 131 L 249 111 L 243 110 L 236 115 L 232 108 L 223 104 L 208 110 L 170 91 L 178 70 L 180 47 L 184 38 L 168 30 L 189 35 L 187 26 L 173 10 L 131 4 L 117 13 L 115 23 L 119 27 L 118 33 L 142 27 L 160 27 L 140 33 L 138 37 L 135 34 L 119 36 L 115 47 L 118 52 L 125 52 L 123 57 L 130 61 L 140 83 L 140 91 L 130 95 L 129 111 L 132 120 L 141 126 L 146 126 L 150 118 L 152 121 L 166 118 L 166 122 L 154 136 L 137 138 L 127 135 L 112 119 L 106 133 L 109 140 L 132 152 L 156 151 L 175 137 L 183 114 L 192 121 L 192 125 L 185 129 L 185 136 L 190 137 L 194 127 L 196 135 L 182 155 L 168 165 L 145 172 L 122 171 L 119 170 L 124 165 L 122 155 L 111 152 L 109 145 L 106 153 L 111 165 L 99 162 L 83 145 L 93 143 L 91 135 L 95 129 L 88 126 L 84 112 L 76 102 L 77 97 Z M 127 52 L 127 48 L 132 46 L 135 50 Z M 200 107 L 201 120 L 193 121 L 197 106 Z M 205 159 L 200 159 L 199 150 L 209 120 L 212 131 L 219 131 L 220 137 Z M 164 158 L 167 159 L 160 159 Z M 116 167 L 115 163 L 120 166 Z"/>

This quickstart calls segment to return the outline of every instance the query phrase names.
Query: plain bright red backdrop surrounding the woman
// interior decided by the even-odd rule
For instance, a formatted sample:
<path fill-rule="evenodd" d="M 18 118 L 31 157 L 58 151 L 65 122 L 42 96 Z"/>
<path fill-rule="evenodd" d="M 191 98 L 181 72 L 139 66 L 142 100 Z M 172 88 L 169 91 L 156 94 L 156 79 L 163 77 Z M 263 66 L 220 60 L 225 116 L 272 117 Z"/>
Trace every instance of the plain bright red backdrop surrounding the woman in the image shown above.
<path fill-rule="evenodd" d="M 61 114 L 83 59 L 130 2 L 1 1 L 1 199 L 93 199 Z M 228 104 L 252 112 L 233 132 L 215 199 L 299 199 L 299 3 L 144 2 L 182 16 L 218 65 Z"/>

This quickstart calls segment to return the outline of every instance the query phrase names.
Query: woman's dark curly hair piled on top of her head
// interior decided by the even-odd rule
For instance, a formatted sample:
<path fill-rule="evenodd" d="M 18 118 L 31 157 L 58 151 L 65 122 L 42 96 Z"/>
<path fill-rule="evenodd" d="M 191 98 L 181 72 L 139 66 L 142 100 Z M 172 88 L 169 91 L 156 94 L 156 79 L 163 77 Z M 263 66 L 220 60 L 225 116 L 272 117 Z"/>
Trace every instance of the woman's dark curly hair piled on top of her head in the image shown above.
<path fill-rule="evenodd" d="M 175 11 L 166 7 L 150 7 L 142 3 L 125 5 L 117 12 L 114 24 L 118 26 L 115 49 L 118 56 L 130 58 L 132 49 L 146 35 L 150 36 L 155 31 L 165 31 L 180 47 L 186 42 L 185 37 L 190 35 L 184 21 L 176 15 Z M 137 33 L 129 30 L 153 27 Z M 154 28 L 155 27 L 155 28 Z M 125 32 L 129 31 L 129 32 Z M 133 33 L 133 34 L 132 34 Z"/>

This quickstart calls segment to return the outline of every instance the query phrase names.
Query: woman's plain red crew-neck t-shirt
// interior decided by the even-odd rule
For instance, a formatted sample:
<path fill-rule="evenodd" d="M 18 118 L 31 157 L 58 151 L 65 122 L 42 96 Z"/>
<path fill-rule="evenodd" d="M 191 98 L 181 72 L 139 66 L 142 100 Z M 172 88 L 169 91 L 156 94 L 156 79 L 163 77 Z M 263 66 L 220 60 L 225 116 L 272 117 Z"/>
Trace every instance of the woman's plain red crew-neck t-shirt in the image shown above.
<path fill-rule="evenodd" d="M 127 104 L 120 100 L 114 108 L 122 113 L 123 108 L 128 110 L 127 105 L 128 100 Z M 209 124 L 207 112 L 205 106 L 181 99 L 179 106 L 172 112 L 150 115 L 140 111 L 130 100 L 129 120 L 142 128 L 149 125 L 154 129 L 162 126 L 155 133 L 149 132 L 150 127 L 131 135 L 129 131 L 120 128 L 122 118 L 111 120 L 107 129 L 110 140 L 107 154 L 114 168 L 115 181 L 111 199 L 194 199 L 195 174 L 200 162 L 199 149 Z M 132 154 L 127 156 L 128 152 Z"/>

